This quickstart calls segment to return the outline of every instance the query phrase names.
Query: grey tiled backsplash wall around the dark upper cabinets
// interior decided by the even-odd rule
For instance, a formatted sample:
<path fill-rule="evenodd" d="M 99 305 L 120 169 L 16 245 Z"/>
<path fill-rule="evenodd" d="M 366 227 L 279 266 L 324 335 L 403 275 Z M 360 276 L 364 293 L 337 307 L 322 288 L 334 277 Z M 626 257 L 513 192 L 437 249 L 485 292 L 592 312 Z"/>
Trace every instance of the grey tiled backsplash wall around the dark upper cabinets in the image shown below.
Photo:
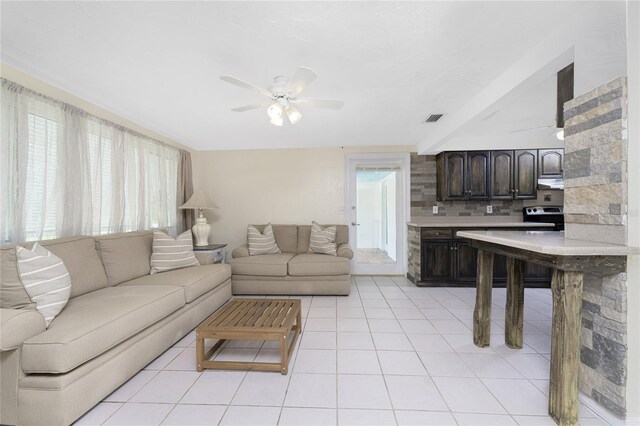
<path fill-rule="evenodd" d="M 420 216 L 522 216 L 522 201 L 437 201 L 436 157 L 411 153 L 411 217 Z M 438 214 L 432 207 L 438 206 Z M 486 207 L 493 206 L 487 214 Z"/>

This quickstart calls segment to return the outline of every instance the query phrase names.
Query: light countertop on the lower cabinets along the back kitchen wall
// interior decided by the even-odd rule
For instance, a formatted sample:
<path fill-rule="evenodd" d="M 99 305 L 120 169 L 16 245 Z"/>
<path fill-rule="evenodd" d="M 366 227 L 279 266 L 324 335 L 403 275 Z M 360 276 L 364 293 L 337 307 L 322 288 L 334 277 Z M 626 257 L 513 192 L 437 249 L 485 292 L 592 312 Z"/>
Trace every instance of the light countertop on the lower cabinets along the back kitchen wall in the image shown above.
<path fill-rule="evenodd" d="M 408 226 L 420 228 L 553 228 L 553 223 L 522 222 L 518 216 L 416 217 Z"/>

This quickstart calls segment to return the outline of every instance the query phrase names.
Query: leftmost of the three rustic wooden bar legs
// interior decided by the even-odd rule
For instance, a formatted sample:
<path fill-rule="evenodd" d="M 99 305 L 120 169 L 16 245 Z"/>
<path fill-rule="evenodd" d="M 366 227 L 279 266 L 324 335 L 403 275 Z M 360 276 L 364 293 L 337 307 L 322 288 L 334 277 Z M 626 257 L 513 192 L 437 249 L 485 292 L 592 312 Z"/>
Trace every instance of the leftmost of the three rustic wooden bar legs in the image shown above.
<path fill-rule="evenodd" d="M 493 253 L 478 250 L 476 307 L 473 311 L 473 343 L 484 348 L 491 343 L 491 289 L 493 287 Z"/>

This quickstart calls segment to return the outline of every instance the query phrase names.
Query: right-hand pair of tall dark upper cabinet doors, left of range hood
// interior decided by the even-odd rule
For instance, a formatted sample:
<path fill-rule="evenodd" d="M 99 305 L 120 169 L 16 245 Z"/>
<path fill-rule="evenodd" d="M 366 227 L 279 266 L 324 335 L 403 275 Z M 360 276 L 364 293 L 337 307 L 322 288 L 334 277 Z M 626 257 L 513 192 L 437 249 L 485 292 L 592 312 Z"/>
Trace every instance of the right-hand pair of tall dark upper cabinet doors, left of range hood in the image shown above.
<path fill-rule="evenodd" d="M 491 199 L 528 200 L 538 196 L 538 151 L 491 151 Z"/>

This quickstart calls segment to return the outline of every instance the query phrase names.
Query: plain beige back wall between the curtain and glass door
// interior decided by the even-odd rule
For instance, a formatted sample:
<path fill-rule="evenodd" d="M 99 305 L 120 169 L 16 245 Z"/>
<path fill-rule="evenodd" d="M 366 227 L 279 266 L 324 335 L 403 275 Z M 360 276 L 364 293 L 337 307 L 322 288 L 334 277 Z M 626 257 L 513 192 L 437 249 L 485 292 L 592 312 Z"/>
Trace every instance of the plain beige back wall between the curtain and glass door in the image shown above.
<path fill-rule="evenodd" d="M 251 223 L 345 223 L 345 154 L 411 152 L 415 146 L 199 151 L 193 153 L 194 189 L 220 206 L 205 212 L 210 241 L 245 244 Z"/>

